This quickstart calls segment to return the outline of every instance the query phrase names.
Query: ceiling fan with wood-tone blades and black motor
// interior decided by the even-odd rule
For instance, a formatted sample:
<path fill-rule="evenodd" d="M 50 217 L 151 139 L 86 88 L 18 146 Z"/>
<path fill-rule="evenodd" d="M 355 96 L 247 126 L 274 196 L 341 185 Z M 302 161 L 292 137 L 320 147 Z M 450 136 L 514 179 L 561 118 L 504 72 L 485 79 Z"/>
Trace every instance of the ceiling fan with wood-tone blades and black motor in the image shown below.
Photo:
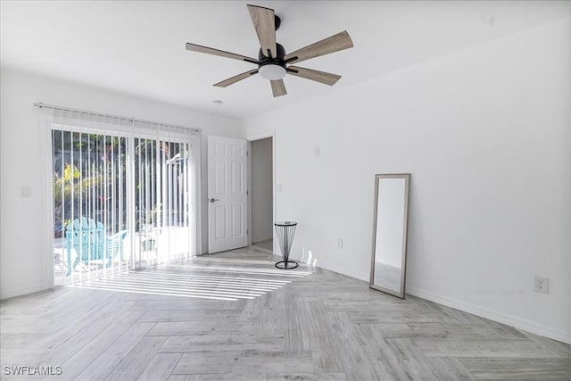
<path fill-rule="evenodd" d="M 269 79 L 274 96 L 281 96 L 287 94 L 283 79 L 285 74 L 315 80 L 330 86 L 335 85 L 335 82 L 341 78 L 340 75 L 327 73 L 325 71 L 288 65 L 290 63 L 302 62 L 309 60 L 310 58 L 319 57 L 319 55 L 335 53 L 352 47 L 353 43 L 351 37 L 349 37 L 346 30 L 337 33 L 334 36 L 322 39 L 310 46 L 302 47 L 295 52 L 285 54 L 284 46 L 281 46 L 276 42 L 276 30 L 279 29 L 281 20 L 276 16 L 274 10 L 257 5 L 247 5 L 247 7 L 248 12 L 250 12 L 253 28 L 256 29 L 256 34 L 260 40 L 261 48 L 257 60 L 208 46 L 186 43 L 186 49 L 193 52 L 214 54 L 258 65 L 258 69 L 248 70 L 242 74 L 238 74 L 232 78 L 216 83 L 214 86 L 228 87 L 242 79 L 250 78 L 254 74 L 260 74 L 263 79 Z"/>

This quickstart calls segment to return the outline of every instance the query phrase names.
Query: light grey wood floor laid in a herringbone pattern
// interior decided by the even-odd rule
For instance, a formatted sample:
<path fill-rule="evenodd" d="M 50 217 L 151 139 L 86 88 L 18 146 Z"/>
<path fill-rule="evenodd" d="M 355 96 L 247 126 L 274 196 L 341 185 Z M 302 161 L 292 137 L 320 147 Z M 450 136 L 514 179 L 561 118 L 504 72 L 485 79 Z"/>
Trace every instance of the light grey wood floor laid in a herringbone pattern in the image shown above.
<path fill-rule="evenodd" d="M 4 367 L 79 380 L 571 379 L 571 347 L 252 248 L 0 303 Z"/>

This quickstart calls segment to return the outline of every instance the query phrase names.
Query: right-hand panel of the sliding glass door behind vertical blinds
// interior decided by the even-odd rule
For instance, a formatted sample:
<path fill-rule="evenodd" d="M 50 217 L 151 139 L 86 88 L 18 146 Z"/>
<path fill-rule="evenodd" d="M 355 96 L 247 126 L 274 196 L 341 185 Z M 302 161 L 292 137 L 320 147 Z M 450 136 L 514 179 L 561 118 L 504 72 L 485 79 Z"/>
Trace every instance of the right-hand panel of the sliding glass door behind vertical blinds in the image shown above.
<path fill-rule="evenodd" d="M 192 244 L 190 146 L 135 138 L 134 268 L 185 258 Z"/>

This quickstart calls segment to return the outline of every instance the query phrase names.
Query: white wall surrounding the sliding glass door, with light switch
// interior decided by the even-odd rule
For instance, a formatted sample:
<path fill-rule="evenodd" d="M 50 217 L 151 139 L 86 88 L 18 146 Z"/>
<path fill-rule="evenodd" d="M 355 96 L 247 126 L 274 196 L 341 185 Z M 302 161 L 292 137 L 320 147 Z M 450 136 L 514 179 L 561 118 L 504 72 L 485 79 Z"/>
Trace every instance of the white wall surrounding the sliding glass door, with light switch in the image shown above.
<path fill-rule="evenodd" d="M 38 109 L 34 102 L 156 120 L 203 129 L 203 215 L 206 214 L 206 137 L 244 137 L 240 121 L 190 109 L 119 95 L 93 87 L 2 70 L 0 137 L 2 160 L 0 298 L 46 288 L 46 158 L 40 153 Z M 31 198 L 20 198 L 19 187 L 31 186 Z M 207 247 L 203 218 L 203 248 Z M 203 250 L 204 251 L 204 250 Z"/>

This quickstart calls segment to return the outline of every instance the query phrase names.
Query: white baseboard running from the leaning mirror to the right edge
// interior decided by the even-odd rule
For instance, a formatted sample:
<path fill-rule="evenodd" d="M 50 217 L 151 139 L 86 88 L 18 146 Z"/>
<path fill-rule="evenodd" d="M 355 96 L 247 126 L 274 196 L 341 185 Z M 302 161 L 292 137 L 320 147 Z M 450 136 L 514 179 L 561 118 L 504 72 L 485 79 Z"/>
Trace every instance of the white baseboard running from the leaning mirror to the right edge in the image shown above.
<path fill-rule="evenodd" d="M 407 286 L 406 293 L 431 302 L 443 304 L 459 311 L 468 312 L 484 319 L 491 319 L 510 327 L 523 329 L 535 335 L 542 335 L 559 342 L 571 344 L 571 333 L 559 329 L 553 329 L 552 327 L 547 327 L 531 320 L 521 319 L 517 316 L 509 315 L 501 311 L 494 311 L 472 303 L 452 299 L 447 296 L 433 294 L 414 286 Z"/>

